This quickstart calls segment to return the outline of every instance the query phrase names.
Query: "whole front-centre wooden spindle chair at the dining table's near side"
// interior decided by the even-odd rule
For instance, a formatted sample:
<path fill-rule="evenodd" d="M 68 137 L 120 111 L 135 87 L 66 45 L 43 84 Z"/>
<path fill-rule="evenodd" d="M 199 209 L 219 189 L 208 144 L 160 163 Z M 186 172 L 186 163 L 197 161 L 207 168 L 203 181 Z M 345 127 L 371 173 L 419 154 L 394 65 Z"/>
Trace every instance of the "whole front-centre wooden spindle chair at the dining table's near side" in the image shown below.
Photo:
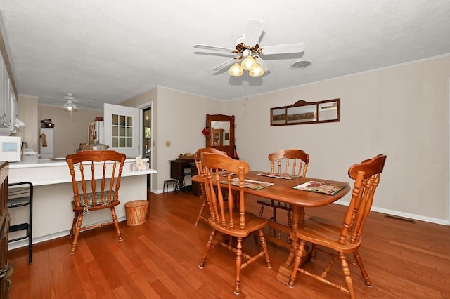
<path fill-rule="evenodd" d="M 248 173 L 249 166 L 245 161 L 231 159 L 221 154 L 202 153 L 201 175 L 205 184 L 205 194 L 210 202 L 210 218 L 208 223 L 212 227 L 210 238 L 207 241 L 206 251 L 199 265 L 200 269 L 205 267 L 205 262 L 211 248 L 223 246 L 236 253 L 236 285 L 234 293 L 240 293 L 240 270 L 247 267 L 250 263 L 255 262 L 257 258 L 264 256 L 266 266 L 271 269 L 269 253 L 267 253 L 266 240 L 263 227 L 267 224 L 267 220 L 257 217 L 252 213 L 245 211 L 245 193 L 244 178 Z M 221 172 L 219 174 L 219 172 Z M 225 173 L 225 176 L 223 176 Z M 236 177 L 232 180 L 230 173 L 236 173 Z M 214 178 L 214 180 L 212 180 Z M 221 184 L 220 182 L 224 182 Z M 231 186 L 237 184 L 239 191 L 238 197 L 232 192 Z M 228 204 L 224 203 L 224 192 L 228 191 Z M 238 209 L 233 208 L 234 204 L 238 204 Z M 242 241 L 249 234 L 257 232 L 262 244 L 262 251 L 257 255 L 250 256 L 243 253 Z M 219 235 L 217 235 L 219 233 Z M 236 237 L 237 244 L 232 244 L 233 237 Z M 243 262 L 243 258 L 246 259 Z M 255 279 L 258 279 L 255 277 Z"/>

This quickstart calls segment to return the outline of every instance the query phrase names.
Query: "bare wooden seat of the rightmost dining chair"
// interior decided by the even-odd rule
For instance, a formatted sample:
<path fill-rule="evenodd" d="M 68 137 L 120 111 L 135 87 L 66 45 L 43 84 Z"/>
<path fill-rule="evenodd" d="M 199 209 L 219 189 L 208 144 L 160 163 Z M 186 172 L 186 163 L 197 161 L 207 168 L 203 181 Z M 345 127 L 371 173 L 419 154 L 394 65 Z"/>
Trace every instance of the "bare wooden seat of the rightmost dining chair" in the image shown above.
<path fill-rule="evenodd" d="M 340 232 L 342 231 L 342 224 L 338 225 L 335 222 L 319 217 L 311 217 L 304 221 L 304 225 L 297 227 L 297 237 L 317 245 L 333 248 L 335 251 L 341 253 L 352 253 L 361 246 L 362 236 L 354 243 L 350 242 L 351 235 L 347 236 L 345 244 L 338 243 Z"/>

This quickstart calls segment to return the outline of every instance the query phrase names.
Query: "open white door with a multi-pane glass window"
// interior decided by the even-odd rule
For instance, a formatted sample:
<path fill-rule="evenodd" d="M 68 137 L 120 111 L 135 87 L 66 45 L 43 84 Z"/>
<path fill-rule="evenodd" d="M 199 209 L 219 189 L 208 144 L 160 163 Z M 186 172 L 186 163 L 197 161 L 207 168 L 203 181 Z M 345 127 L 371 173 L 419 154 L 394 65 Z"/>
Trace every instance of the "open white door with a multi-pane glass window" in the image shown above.
<path fill-rule="evenodd" d="M 139 156 L 139 109 L 104 104 L 105 144 L 127 158 Z"/>

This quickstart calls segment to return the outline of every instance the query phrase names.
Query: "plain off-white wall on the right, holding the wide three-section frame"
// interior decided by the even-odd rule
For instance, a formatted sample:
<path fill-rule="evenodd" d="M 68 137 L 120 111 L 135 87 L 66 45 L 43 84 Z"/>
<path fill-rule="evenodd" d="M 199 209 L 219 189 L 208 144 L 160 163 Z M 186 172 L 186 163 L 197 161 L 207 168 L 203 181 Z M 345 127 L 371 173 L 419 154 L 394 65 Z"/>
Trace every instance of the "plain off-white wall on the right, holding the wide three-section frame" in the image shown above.
<path fill-rule="evenodd" d="M 268 171 L 270 152 L 300 148 L 308 176 L 349 181 L 349 166 L 387 154 L 373 209 L 448 225 L 449 78 L 447 56 L 257 95 L 246 109 L 225 102 L 224 114 L 235 115 L 237 151 L 252 169 Z M 271 107 L 333 98 L 339 123 L 270 126 Z"/>

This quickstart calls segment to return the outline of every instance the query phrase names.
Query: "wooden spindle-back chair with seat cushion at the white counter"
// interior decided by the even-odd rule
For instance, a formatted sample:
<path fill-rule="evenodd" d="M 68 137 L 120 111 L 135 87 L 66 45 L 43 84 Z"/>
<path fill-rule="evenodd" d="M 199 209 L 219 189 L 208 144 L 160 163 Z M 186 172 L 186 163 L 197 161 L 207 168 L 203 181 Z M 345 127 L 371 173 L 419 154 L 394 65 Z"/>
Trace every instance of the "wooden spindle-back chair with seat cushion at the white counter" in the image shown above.
<path fill-rule="evenodd" d="M 113 150 L 86 150 L 69 154 L 65 160 L 69 164 L 74 193 L 72 208 L 75 216 L 70 229 L 70 237 L 73 237 L 70 254 L 75 253 L 79 233 L 96 227 L 114 224 L 119 241 L 122 241 L 115 206 L 120 204 L 119 187 L 125 154 Z M 79 185 L 81 192 L 79 192 Z M 104 208 L 110 208 L 112 222 L 82 227 L 85 214 L 89 215 L 90 212 Z"/>

